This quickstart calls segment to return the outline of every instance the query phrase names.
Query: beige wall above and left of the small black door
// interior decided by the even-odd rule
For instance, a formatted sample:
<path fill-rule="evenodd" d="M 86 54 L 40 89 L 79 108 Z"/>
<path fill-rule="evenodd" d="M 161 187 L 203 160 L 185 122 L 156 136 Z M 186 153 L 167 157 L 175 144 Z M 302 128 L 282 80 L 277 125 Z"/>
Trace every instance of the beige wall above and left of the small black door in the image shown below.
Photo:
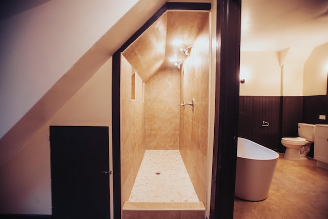
<path fill-rule="evenodd" d="M 0 214 L 52 214 L 49 125 L 109 126 L 111 133 L 111 80 L 112 58 L 0 169 Z"/>

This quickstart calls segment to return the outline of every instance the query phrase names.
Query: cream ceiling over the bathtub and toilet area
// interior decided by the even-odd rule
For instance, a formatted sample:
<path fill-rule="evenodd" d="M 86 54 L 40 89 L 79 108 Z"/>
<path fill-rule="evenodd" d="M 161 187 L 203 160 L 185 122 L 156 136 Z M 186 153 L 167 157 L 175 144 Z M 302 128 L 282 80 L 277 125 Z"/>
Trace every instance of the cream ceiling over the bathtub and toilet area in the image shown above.
<path fill-rule="evenodd" d="M 241 51 L 281 51 L 328 42 L 327 0 L 242 0 Z"/>

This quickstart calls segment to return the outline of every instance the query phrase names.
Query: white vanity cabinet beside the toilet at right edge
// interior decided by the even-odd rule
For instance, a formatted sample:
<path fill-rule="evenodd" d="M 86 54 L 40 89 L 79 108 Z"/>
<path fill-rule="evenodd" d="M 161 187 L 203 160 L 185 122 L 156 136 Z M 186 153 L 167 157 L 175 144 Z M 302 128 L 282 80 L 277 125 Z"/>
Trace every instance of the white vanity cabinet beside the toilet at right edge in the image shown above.
<path fill-rule="evenodd" d="M 314 158 L 317 160 L 317 166 L 328 169 L 328 125 L 316 125 Z"/>

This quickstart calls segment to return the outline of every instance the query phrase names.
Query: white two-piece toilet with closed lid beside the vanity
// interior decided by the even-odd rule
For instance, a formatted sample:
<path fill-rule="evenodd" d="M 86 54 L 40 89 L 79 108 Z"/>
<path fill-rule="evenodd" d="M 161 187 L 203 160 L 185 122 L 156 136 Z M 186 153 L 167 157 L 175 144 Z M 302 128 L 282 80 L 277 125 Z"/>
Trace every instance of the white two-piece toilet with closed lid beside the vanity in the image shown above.
<path fill-rule="evenodd" d="M 281 144 L 286 147 L 284 158 L 288 160 L 305 160 L 314 142 L 315 125 L 299 123 L 298 137 L 283 137 Z"/>

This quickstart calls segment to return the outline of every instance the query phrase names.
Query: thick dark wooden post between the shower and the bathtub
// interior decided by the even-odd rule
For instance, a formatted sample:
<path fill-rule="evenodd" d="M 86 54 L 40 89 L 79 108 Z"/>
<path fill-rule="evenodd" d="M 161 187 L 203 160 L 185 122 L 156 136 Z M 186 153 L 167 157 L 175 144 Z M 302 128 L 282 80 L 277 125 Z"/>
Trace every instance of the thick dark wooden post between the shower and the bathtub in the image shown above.
<path fill-rule="evenodd" d="M 210 218 L 233 218 L 237 161 L 241 0 L 217 1 Z"/>

